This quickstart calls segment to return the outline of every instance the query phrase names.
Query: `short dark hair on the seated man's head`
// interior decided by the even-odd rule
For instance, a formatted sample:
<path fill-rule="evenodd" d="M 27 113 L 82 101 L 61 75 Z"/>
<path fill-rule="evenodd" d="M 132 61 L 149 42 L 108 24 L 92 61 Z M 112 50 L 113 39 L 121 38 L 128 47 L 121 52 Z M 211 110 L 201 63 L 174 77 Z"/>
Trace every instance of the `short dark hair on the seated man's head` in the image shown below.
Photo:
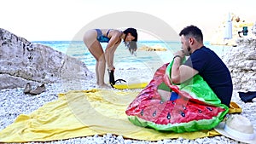
<path fill-rule="evenodd" d="M 203 42 L 203 34 L 201 29 L 196 26 L 191 25 L 183 28 L 183 30 L 179 32 L 179 36 L 182 35 L 185 37 L 195 37 L 198 42 Z"/>

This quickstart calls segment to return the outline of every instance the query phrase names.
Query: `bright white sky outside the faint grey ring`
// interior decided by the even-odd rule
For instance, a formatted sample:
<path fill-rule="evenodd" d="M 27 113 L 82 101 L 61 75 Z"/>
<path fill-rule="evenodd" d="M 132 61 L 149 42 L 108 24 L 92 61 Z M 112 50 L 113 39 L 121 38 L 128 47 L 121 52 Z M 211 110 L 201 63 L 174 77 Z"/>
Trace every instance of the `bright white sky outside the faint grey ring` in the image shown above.
<path fill-rule="evenodd" d="M 256 21 L 253 0 L 0 0 L 0 3 L 0 28 L 28 41 L 72 40 L 91 21 L 123 11 L 151 14 L 177 33 L 185 26 L 198 26 L 206 40 L 228 13 Z M 150 38 L 142 35 L 139 40 Z"/>

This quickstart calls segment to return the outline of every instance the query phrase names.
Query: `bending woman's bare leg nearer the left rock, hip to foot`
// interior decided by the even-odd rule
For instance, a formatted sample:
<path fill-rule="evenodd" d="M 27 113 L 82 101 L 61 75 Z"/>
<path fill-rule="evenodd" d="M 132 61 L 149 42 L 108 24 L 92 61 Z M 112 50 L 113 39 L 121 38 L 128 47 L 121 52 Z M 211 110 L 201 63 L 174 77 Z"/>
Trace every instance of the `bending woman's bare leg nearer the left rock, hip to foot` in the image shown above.
<path fill-rule="evenodd" d="M 91 55 L 96 59 L 96 84 L 100 87 L 108 87 L 104 82 L 104 75 L 106 70 L 106 60 L 104 51 L 102 49 L 101 43 L 96 40 L 96 31 L 90 30 L 84 34 L 84 43 Z"/>

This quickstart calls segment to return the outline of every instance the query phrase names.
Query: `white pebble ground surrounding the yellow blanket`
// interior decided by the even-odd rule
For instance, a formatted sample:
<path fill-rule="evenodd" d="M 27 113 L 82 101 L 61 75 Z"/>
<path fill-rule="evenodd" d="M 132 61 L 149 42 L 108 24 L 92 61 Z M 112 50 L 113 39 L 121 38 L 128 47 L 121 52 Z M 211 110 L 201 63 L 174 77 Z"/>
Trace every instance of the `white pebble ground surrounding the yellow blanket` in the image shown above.
<path fill-rule="evenodd" d="M 117 77 L 119 75 L 123 76 L 122 78 L 127 79 L 131 72 L 136 72 L 137 74 L 143 73 L 143 70 L 140 69 L 121 69 L 117 73 Z M 119 74 L 119 75 L 118 75 Z M 148 76 L 150 77 L 150 76 Z M 24 88 L 16 88 L 16 89 L 1 89 L 0 90 L 0 130 L 6 128 L 9 124 L 12 124 L 20 114 L 29 114 L 39 107 L 44 106 L 45 103 L 49 101 L 55 101 L 58 99 L 58 94 L 66 93 L 68 90 L 77 90 L 77 89 L 95 89 L 95 78 L 84 79 L 84 81 L 80 82 L 61 82 L 55 84 L 45 84 L 46 91 L 41 93 L 40 95 L 25 95 L 23 93 Z M 36 85 L 33 85 L 34 89 Z M 117 90 L 117 89 L 113 89 Z M 125 89 L 127 91 L 140 91 L 141 89 Z M 232 101 L 235 101 L 241 108 L 241 115 L 247 117 L 253 123 L 254 129 L 256 127 L 256 103 L 249 102 L 245 103 L 240 100 L 238 95 L 238 91 L 233 92 Z M 90 144 L 113 144 L 113 143 L 121 143 L 121 144 L 131 144 L 131 143 L 140 143 L 140 144 L 149 144 L 149 143 L 157 143 L 157 144 L 178 144 L 178 143 L 195 143 L 195 144 L 237 144 L 241 143 L 239 141 L 232 140 L 223 135 L 213 136 L 213 137 L 205 137 L 199 138 L 195 140 L 188 140 L 183 138 L 178 139 L 169 139 L 162 141 L 136 141 L 131 139 L 125 139 L 122 135 L 91 135 L 86 137 L 79 138 L 71 138 L 68 140 L 60 140 L 60 141 L 44 141 L 44 142 L 29 142 L 29 143 L 90 143 Z"/>

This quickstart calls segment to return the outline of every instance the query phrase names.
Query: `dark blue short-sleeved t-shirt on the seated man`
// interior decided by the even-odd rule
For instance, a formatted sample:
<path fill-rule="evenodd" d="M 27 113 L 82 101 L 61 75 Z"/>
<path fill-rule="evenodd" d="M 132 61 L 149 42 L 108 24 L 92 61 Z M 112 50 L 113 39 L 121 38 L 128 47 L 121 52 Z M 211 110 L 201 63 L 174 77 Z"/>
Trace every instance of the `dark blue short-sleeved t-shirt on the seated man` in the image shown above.
<path fill-rule="evenodd" d="M 229 69 L 218 55 L 203 46 L 201 49 L 196 49 L 183 65 L 197 70 L 220 101 L 230 107 L 233 92 L 232 79 Z"/>

